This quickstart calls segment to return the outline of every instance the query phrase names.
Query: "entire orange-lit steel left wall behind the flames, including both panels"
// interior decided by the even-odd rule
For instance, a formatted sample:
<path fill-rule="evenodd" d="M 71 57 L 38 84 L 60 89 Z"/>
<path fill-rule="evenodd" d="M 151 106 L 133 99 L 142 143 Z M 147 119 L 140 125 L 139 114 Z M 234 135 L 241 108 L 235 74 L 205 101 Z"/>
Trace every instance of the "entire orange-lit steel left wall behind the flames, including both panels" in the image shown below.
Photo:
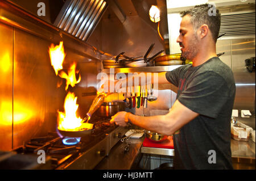
<path fill-rule="evenodd" d="M 96 95 L 100 55 L 90 45 L 5 1 L 0 1 L 0 8 L 0 150 L 11 150 L 31 137 L 55 132 L 57 110 L 64 111 L 65 81 L 51 66 L 49 45 L 64 42 L 65 71 L 77 62 L 81 82 L 68 91 L 78 97 L 81 117 Z"/>

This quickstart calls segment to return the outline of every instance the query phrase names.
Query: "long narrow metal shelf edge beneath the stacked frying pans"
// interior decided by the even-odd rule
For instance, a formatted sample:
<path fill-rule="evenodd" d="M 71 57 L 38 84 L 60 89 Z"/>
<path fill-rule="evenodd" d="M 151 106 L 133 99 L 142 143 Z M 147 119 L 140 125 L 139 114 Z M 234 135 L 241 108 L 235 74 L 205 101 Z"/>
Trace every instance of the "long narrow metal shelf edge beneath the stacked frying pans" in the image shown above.
<path fill-rule="evenodd" d="M 145 66 L 139 68 L 115 68 L 114 73 L 135 73 L 135 72 L 162 72 L 171 71 L 183 65 L 169 65 L 169 66 Z M 110 69 L 102 69 L 102 73 L 110 73 Z"/>

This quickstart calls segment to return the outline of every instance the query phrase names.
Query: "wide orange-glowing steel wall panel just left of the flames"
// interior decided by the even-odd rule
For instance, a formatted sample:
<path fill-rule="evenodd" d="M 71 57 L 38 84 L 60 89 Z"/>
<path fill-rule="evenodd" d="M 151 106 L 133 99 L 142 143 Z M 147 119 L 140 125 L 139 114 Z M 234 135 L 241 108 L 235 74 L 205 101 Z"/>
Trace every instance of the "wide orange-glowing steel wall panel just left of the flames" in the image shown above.
<path fill-rule="evenodd" d="M 55 131 L 56 110 L 64 92 L 49 60 L 50 43 L 15 29 L 14 37 L 14 148 L 31 137 Z"/>

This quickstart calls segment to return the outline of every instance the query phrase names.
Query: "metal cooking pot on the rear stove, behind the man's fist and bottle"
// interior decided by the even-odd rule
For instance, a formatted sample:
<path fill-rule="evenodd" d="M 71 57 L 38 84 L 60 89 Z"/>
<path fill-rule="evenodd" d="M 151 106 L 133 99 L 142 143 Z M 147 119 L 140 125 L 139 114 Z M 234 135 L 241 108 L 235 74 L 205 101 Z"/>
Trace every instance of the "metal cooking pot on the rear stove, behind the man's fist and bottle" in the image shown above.
<path fill-rule="evenodd" d="M 124 102 L 104 102 L 96 111 L 100 117 L 110 117 L 119 111 L 125 111 L 126 103 Z"/>

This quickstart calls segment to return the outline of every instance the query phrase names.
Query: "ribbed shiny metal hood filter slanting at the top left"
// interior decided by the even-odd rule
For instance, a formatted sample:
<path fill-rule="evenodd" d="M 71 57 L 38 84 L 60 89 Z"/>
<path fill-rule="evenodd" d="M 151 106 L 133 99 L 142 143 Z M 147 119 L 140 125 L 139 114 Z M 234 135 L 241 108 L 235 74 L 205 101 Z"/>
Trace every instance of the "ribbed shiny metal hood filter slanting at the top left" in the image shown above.
<path fill-rule="evenodd" d="M 104 0 L 68 0 L 55 20 L 59 27 L 81 40 L 87 41 L 106 10 Z"/>

